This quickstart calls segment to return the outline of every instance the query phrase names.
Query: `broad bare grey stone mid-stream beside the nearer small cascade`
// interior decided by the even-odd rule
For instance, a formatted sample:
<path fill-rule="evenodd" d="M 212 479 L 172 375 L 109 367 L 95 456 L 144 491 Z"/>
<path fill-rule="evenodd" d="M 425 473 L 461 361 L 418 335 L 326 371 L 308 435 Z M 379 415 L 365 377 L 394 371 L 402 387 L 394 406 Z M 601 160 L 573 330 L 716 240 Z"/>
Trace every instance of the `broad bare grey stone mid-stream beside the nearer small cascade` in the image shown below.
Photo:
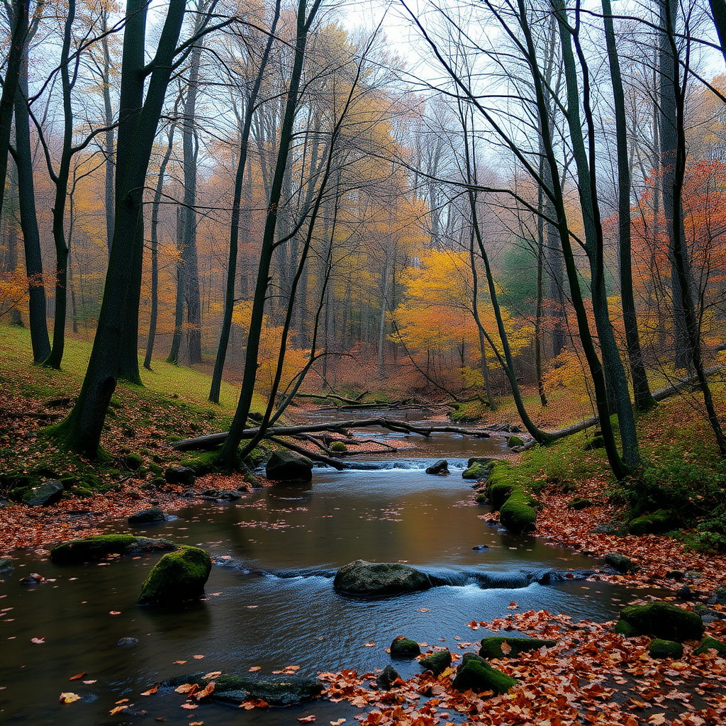
<path fill-rule="evenodd" d="M 401 563 L 356 560 L 335 574 L 333 587 L 348 595 L 397 595 L 431 587 L 428 575 Z"/>

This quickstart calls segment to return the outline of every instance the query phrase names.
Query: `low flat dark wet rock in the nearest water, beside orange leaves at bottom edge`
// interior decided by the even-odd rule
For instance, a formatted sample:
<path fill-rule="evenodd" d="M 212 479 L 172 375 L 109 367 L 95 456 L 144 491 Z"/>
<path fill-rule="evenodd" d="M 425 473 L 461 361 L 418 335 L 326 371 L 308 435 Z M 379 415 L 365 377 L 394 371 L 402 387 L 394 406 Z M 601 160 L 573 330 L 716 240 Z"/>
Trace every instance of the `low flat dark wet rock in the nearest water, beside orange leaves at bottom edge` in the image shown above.
<path fill-rule="evenodd" d="M 257 680 L 235 674 L 223 674 L 214 679 L 214 691 L 211 697 L 230 703 L 243 703 L 249 698 L 261 698 L 270 706 L 291 706 L 293 703 L 319 698 L 324 688 L 325 684 L 317 678 L 280 676 Z"/>

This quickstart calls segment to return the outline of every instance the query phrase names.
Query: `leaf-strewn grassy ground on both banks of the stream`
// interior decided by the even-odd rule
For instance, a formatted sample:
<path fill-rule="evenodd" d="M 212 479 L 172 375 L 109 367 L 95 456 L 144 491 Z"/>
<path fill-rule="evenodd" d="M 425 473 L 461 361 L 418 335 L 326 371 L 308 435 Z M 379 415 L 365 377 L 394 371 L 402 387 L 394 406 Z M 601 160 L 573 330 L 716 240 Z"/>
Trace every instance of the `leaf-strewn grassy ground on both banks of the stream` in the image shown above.
<path fill-rule="evenodd" d="M 149 485 L 158 481 L 164 467 L 179 464 L 181 457 L 168 446 L 170 440 L 227 428 L 234 406 L 231 387 L 225 391 L 222 405 L 213 406 L 205 401 L 208 378 L 155 362 L 154 373 L 143 374 L 147 388 L 119 386 L 115 393 L 102 441 L 105 464 L 69 459 L 43 438 L 41 430 L 70 409 L 81 383 L 87 346 L 69 341 L 63 372 L 30 367 L 27 334 L 10 329 L 6 335 L 8 330 L 3 328 L 0 350 L 0 472 L 7 476 L 12 471 L 34 471 L 48 478 L 70 475 L 77 481 L 76 492 L 74 487 L 70 489 L 74 495 L 52 507 L 11 504 L 0 508 L 0 553 L 12 556 L 17 548 L 42 553 L 57 542 L 99 534 L 99 525 L 107 518 L 126 517 L 151 505 L 173 510 L 188 503 L 180 497 L 180 486 Z M 717 397 L 724 410 L 721 388 Z M 256 404 L 259 407 L 261 400 Z M 506 409 L 500 409 L 497 418 L 502 423 L 516 422 Z M 538 515 L 537 536 L 586 554 L 619 552 L 639 566 L 636 573 L 603 573 L 597 580 L 619 582 L 635 590 L 660 587 L 672 593 L 666 595 L 669 600 L 675 600 L 677 590 L 688 584 L 693 599 L 678 604 L 692 608 L 710 600 L 713 617 L 706 624 L 706 634 L 726 640 L 726 619 L 722 619 L 726 606 L 713 602 L 714 592 L 726 583 L 726 557 L 713 548 L 704 549 L 707 544 L 722 543 L 708 527 L 704 529 L 704 523 L 709 523 L 709 507 L 698 511 L 698 502 L 706 501 L 712 487 L 723 482 L 709 431 L 690 402 L 680 398 L 640 416 L 638 425 L 650 479 L 630 489 L 613 484 L 602 449 L 586 450 L 587 433 L 552 449 L 512 457 L 544 505 Z M 138 470 L 126 465 L 129 454 L 141 457 Z M 195 482 L 199 492 L 240 486 L 247 487 L 241 475 L 211 474 Z M 699 489 L 703 486 L 706 489 Z M 695 514 L 679 522 L 676 537 L 593 532 L 603 523 L 615 523 L 622 529 L 625 511 L 634 506 L 637 496 L 648 492 L 655 497 L 690 497 L 696 502 Z M 567 503 L 577 496 L 592 499 L 594 505 L 579 511 L 569 509 Z M 472 504 L 476 506 L 473 500 Z M 481 515 L 487 520 L 493 516 Z M 583 587 L 595 586 L 588 582 Z M 377 687 L 376 674 L 322 674 L 329 682 L 327 698 L 357 706 L 361 710 L 356 718 L 365 726 L 443 726 L 460 724 L 462 719 L 542 726 L 726 724 L 726 660 L 713 650 L 693 655 L 696 643 L 685 644 L 682 658 L 656 660 L 648 656 L 647 637 L 616 635 L 613 623 L 576 623 L 547 611 L 521 612 L 516 603 L 511 604 L 506 618 L 468 625 L 472 641 L 476 640 L 474 631 L 486 628 L 556 640 L 557 645 L 494 661 L 495 667 L 519 681 L 503 696 L 459 693 L 452 688 L 454 671 L 447 669 L 438 678 L 425 672 L 396 682 L 391 690 Z M 465 646 L 462 650 L 478 647 L 474 642 L 460 645 Z M 462 653 L 453 655 L 458 658 Z"/>

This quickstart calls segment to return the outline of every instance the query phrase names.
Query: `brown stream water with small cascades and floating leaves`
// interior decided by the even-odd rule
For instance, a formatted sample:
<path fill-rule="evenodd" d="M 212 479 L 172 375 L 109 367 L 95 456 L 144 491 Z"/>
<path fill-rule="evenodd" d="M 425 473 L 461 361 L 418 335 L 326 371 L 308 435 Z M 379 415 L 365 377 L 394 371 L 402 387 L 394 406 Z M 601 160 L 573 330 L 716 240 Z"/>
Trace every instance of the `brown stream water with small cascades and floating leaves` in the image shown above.
<path fill-rule="evenodd" d="M 511 603 L 606 620 L 630 599 L 627 590 L 581 579 L 601 560 L 536 537 L 513 537 L 480 518 L 487 507 L 472 505 L 462 469 L 470 456 L 501 454 L 502 439 L 442 434 L 407 437 L 407 443 L 415 446 L 405 457 L 367 455 L 358 462 L 362 468 L 343 472 L 316 468 L 311 484 L 272 486 L 224 505 L 191 505 L 153 527 L 108 522 L 108 531 L 132 529 L 210 552 L 216 565 L 206 598 L 181 611 L 135 604 L 159 555 L 63 567 L 18 555 L 15 572 L 0 582 L 0 608 L 12 608 L 0 618 L 0 722 L 151 724 L 163 718 L 271 725 L 317 713 L 320 723 L 346 717 L 351 724 L 356 709 L 345 703 L 253 711 L 209 704 L 189 712 L 175 693 L 139 693 L 200 670 L 373 671 L 391 663 L 385 649 L 396 635 L 461 653 L 460 644 L 474 650 L 486 635 L 467 623 L 505 616 Z M 441 457 L 451 474 L 425 474 Z M 488 548 L 473 549 L 481 545 Z M 336 594 L 336 568 L 359 558 L 407 562 L 447 584 L 378 600 Z M 20 585 L 31 571 L 52 582 Z M 116 645 L 121 638 L 138 643 Z M 394 665 L 404 677 L 419 670 L 415 661 Z M 81 672 L 82 680 L 69 680 Z M 66 691 L 81 701 L 61 705 Z M 128 709 L 110 714 L 123 698 Z"/>

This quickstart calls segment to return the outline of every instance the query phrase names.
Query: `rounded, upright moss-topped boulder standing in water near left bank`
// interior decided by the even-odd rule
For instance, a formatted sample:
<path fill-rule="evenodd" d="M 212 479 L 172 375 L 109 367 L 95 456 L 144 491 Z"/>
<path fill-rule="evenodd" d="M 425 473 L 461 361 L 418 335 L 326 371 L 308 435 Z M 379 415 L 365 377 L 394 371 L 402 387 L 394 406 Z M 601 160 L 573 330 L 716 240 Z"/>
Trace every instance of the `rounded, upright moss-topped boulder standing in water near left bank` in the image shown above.
<path fill-rule="evenodd" d="M 212 560 L 200 547 L 179 547 L 164 555 L 141 587 L 139 605 L 176 605 L 204 593 Z"/>

